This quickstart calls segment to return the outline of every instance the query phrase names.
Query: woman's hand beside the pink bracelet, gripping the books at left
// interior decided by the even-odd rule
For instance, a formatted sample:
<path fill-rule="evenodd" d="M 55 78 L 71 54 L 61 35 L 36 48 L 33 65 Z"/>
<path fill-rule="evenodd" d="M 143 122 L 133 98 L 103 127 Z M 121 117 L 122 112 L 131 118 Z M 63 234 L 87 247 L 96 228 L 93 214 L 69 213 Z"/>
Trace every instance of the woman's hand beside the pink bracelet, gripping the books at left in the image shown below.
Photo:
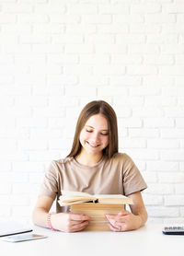
<path fill-rule="evenodd" d="M 84 229 L 89 223 L 88 215 L 73 213 L 60 213 L 51 215 L 51 223 L 54 229 L 63 232 L 77 232 Z"/>

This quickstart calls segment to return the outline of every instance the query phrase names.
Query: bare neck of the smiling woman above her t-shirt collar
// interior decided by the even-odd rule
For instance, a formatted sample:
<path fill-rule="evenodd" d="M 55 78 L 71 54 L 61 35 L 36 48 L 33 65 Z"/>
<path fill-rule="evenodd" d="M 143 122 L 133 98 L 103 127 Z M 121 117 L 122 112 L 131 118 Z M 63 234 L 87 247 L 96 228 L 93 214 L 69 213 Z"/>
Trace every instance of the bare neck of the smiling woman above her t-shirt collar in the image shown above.
<path fill-rule="evenodd" d="M 85 152 L 81 151 L 81 153 L 75 157 L 76 161 L 79 164 L 93 167 L 98 164 L 100 159 L 103 157 L 102 154 L 94 155 L 94 154 L 86 154 Z"/>

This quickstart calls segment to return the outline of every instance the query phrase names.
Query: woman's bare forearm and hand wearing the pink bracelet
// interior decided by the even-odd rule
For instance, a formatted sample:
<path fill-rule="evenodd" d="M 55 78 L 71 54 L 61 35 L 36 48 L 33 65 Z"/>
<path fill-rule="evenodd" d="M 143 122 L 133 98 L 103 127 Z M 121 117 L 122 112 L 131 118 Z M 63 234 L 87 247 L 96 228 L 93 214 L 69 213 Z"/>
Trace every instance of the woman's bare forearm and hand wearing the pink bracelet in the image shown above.
<path fill-rule="evenodd" d="M 49 196 L 40 196 L 33 210 L 33 223 L 41 227 L 49 227 L 48 214 L 52 207 L 53 199 Z M 72 213 L 59 213 L 51 215 L 51 224 L 54 229 L 63 232 L 77 232 L 88 225 L 90 217 Z"/>

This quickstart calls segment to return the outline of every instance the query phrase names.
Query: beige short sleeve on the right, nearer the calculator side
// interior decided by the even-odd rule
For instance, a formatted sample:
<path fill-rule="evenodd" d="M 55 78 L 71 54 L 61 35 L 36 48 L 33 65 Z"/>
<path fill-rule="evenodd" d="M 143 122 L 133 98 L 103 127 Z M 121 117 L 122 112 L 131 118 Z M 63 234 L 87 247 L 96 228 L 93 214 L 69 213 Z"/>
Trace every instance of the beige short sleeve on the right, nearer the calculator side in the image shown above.
<path fill-rule="evenodd" d="M 142 192 L 147 188 L 141 172 L 132 161 L 132 158 L 126 154 L 124 154 L 122 179 L 125 195 L 133 192 Z"/>

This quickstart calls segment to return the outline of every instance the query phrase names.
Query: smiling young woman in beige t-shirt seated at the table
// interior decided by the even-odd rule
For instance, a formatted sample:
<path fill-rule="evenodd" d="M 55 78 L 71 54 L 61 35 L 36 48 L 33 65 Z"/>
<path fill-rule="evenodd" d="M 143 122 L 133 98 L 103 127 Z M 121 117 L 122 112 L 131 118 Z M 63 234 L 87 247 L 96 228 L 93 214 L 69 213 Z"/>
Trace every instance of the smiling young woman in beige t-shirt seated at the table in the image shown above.
<path fill-rule="evenodd" d="M 146 183 L 126 154 L 118 152 L 116 113 L 103 100 L 86 104 L 75 128 L 70 154 L 52 161 L 45 174 L 40 196 L 33 211 L 33 222 L 53 230 L 76 232 L 84 229 L 90 217 L 68 212 L 57 201 L 65 191 L 91 194 L 124 194 L 132 198 L 131 212 L 106 215 L 112 231 L 127 231 L 142 227 L 147 220 L 141 192 Z M 56 213 L 50 209 L 56 199 Z"/>

